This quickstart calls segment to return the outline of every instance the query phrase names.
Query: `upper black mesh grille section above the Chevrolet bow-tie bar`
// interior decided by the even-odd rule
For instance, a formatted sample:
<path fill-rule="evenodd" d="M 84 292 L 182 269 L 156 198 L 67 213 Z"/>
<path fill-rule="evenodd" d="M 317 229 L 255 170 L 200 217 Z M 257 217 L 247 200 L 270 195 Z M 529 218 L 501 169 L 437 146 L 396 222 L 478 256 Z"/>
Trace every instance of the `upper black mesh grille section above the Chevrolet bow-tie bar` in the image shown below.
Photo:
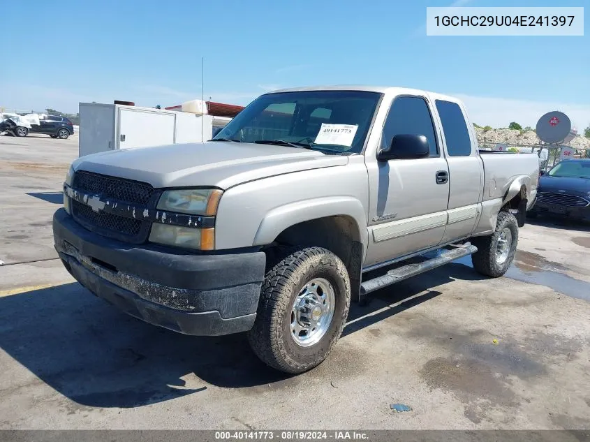
<path fill-rule="evenodd" d="M 141 205 L 147 205 L 154 193 L 154 188 L 147 183 L 107 177 L 84 170 L 75 172 L 72 187 L 77 191 L 100 195 L 102 198 Z"/>

